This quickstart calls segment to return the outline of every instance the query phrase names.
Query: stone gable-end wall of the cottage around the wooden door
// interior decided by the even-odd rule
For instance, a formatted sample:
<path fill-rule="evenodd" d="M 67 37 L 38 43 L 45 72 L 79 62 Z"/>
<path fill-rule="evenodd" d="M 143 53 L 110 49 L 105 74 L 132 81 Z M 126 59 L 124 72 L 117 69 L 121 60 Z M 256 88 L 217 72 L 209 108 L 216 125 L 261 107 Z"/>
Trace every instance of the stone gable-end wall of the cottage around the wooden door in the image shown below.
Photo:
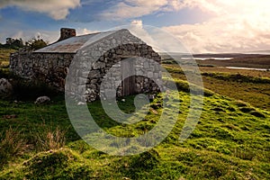
<path fill-rule="evenodd" d="M 66 90 L 73 94 L 78 101 L 86 100 L 87 102 L 92 102 L 98 97 L 106 99 L 115 93 L 117 96 L 122 96 L 120 62 L 127 58 L 129 60 L 137 59 L 137 64 L 135 64 L 137 76 L 134 85 L 136 93 L 160 91 L 158 85 L 161 85 L 162 72 L 161 68 L 157 67 L 157 64 L 161 62 L 160 56 L 129 31 L 121 31 L 117 35 L 113 34 L 80 49 L 72 61 L 72 69 L 69 69 L 71 79 L 68 79 L 70 86 L 67 86 Z M 152 59 L 157 64 L 148 62 L 148 59 Z M 112 66 L 114 68 L 110 72 Z M 89 75 L 88 72 L 90 72 Z M 105 84 L 103 83 L 104 76 L 107 77 Z M 74 94 L 74 92 L 76 93 Z"/>

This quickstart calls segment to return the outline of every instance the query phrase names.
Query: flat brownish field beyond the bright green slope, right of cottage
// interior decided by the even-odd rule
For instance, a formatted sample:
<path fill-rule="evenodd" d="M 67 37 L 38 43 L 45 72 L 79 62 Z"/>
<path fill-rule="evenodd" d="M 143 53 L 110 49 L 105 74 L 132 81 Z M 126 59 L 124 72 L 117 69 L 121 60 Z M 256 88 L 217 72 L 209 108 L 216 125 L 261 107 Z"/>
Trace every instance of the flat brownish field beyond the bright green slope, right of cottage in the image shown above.
<path fill-rule="evenodd" d="M 186 80 L 181 68 L 175 65 L 164 66 L 175 78 Z M 220 71 L 220 69 L 214 67 L 210 71 L 209 68 L 202 68 L 202 80 L 206 89 L 250 103 L 258 108 L 270 109 L 270 78 L 262 76 L 268 75 L 269 72 L 263 74 L 245 71 L 246 73 L 242 74 L 242 70 L 223 69 L 223 71 Z"/>

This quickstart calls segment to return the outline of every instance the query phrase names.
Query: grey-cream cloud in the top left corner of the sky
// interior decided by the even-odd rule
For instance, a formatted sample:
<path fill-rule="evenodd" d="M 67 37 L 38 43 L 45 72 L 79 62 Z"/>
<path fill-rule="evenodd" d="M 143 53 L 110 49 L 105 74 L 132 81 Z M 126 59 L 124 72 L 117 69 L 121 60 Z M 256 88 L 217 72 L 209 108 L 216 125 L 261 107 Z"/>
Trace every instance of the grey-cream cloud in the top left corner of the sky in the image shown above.
<path fill-rule="evenodd" d="M 80 0 L 4 0 L 0 2 L 0 8 L 16 6 L 24 11 L 49 14 L 55 20 L 65 19 L 69 9 L 80 6 Z"/>

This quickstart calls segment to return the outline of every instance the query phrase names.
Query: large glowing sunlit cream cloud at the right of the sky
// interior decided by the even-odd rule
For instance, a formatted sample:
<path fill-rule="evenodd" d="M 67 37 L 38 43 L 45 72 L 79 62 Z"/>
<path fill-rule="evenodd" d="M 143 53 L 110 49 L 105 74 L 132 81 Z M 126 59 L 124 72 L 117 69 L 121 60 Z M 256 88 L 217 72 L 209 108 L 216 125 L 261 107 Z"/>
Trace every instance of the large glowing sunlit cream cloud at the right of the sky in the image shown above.
<path fill-rule="evenodd" d="M 214 14 L 204 22 L 163 29 L 182 40 L 193 52 L 235 52 L 270 49 L 269 1 L 189 0 L 185 6 Z"/>

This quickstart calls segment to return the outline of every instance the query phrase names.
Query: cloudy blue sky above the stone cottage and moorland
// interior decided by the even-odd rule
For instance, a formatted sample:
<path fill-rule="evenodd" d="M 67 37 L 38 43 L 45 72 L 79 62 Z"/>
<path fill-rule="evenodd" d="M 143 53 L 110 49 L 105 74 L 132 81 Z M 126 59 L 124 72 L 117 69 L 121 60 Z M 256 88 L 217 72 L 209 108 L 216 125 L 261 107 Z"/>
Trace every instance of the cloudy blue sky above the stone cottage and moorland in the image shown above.
<path fill-rule="evenodd" d="M 193 53 L 270 50 L 269 7 L 269 0 L 2 0 L 0 42 L 54 42 L 62 27 L 83 35 L 136 24 L 166 31 Z"/>

